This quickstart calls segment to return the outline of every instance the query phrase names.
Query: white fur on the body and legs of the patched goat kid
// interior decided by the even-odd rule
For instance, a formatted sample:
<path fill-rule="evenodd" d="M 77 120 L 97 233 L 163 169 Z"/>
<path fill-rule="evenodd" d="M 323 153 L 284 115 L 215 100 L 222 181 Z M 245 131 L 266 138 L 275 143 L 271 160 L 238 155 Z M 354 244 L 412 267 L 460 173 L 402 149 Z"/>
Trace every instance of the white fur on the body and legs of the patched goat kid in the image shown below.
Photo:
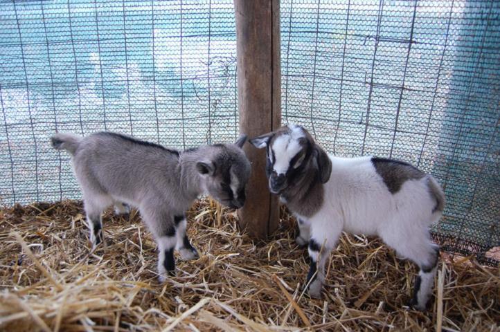
<path fill-rule="evenodd" d="M 429 225 L 435 223 L 441 212 L 433 212 L 435 199 L 429 194 L 428 176 L 408 180 L 398 192 L 392 194 L 382 177 L 377 174 L 371 157 L 338 158 L 330 156 L 332 174 L 324 184 L 325 200 L 321 209 L 305 221 L 301 228 L 310 225 L 310 236 L 323 246 L 328 257 L 337 246 L 342 231 L 377 235 L 394 248 L 398 255 L 410 259 L 418 266 L 432 266 L 436 247 L 431 242 Z M 301 237 L 305 237 L 302 233 Z M 311 252 L 319 261 L 318 280 L 310 288 L 313 297 L 321 294 L 324 278 L 323 257 Z M 324 263 L 324 262 L 323 262 Z M 434 271 L 434 270 L 433 270 Z M 431 293 L 434 272 L 423 273 L 418 293 L 417 308 L 425 308 Z"/>

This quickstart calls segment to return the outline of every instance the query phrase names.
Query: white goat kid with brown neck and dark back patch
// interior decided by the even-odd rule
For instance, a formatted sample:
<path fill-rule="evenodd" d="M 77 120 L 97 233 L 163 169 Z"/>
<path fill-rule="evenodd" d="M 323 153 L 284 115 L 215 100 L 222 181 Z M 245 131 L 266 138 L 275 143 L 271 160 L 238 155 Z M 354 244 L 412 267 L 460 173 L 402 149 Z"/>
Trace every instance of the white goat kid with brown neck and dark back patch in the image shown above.
<path fill-rule="evenodd" d="M 328 156 L 295 125 L 250 142 L 267 148 L 269 189 L 296 215 L 298 244 L 309 243 L 312 297 L 321 296 L 325 262 L 346 231 L 377 235 L 417 264 L 420 273 L 410 303 L 426 308 L 438 261 L 429 225 L 440 219 L 445 206 L 443 190 L 432 176 L 396 160 Z"/>

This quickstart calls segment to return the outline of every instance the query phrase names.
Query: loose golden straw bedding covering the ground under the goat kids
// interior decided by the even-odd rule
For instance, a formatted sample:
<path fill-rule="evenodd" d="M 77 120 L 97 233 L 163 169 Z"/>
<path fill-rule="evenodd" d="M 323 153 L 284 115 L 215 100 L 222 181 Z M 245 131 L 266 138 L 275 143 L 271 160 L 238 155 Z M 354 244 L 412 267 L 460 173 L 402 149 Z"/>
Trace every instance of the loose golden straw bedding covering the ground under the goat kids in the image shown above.
<path fill-rule="evenodd" d="M 139 215 L 103 217 L 89 252 L 80 202 L 0 211 L 0 330 L 5 331 L 499 331 L 500 270 L 442 254 L 427 313 L 405 308 L 416 273 L 376 239 L 346 236 L 330 256 L 323 299 L 303 294 L 307 250 L 285 210 L 254 242 L 208 199 L 189 212 L 201 258 L 177 258 L 160 284 Z"/>

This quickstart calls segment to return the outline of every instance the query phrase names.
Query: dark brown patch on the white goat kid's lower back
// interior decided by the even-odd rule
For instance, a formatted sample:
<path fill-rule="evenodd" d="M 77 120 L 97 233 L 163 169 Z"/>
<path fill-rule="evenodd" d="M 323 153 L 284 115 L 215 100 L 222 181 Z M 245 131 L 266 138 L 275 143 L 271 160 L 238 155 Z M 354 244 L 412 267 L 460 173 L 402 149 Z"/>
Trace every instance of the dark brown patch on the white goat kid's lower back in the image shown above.
<path fill-rule="evenodd" d="M 371 162 L 391 194 L 399 192 L 404 182 L 425 176 L 425 173 L 416 167 L 399 160 L 373 157 Z"/>

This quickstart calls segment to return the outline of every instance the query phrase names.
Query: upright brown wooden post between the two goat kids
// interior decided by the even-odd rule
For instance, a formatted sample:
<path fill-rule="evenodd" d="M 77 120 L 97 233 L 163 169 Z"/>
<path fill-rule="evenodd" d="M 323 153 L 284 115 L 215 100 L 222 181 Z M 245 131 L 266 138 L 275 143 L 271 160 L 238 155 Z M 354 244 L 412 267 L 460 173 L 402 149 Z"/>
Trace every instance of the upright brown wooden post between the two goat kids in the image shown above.
<path fill-rule="evenodd" d="M 240 132 L 254 138 L 280 126 L 279 0 L 234 0 L 238 44 Z M 244 151 L 252 163 L 247 201 L 238 211 L 240 226 L 265 239 L 278 227 L 278 198 L 271 195 L 265 174 L 265 149 L 250 144 Z"/>

